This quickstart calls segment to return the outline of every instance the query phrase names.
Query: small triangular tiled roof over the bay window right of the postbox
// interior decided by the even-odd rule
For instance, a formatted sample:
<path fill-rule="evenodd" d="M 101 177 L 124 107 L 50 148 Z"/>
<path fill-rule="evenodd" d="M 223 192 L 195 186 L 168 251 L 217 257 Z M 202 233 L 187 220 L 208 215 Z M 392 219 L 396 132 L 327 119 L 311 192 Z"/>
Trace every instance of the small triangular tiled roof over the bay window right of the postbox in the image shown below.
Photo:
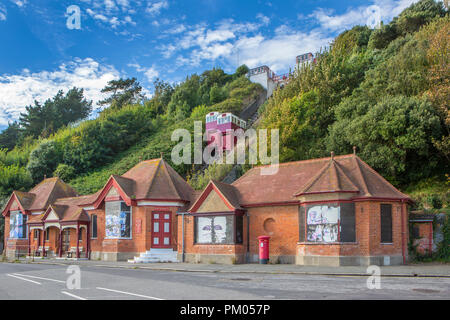
<path fill-rule="evenodd" d="M 318 193 L 359 193 L 358 187 L 332 159 L 317 175 L 308 181 L 295 195 Z"/>

